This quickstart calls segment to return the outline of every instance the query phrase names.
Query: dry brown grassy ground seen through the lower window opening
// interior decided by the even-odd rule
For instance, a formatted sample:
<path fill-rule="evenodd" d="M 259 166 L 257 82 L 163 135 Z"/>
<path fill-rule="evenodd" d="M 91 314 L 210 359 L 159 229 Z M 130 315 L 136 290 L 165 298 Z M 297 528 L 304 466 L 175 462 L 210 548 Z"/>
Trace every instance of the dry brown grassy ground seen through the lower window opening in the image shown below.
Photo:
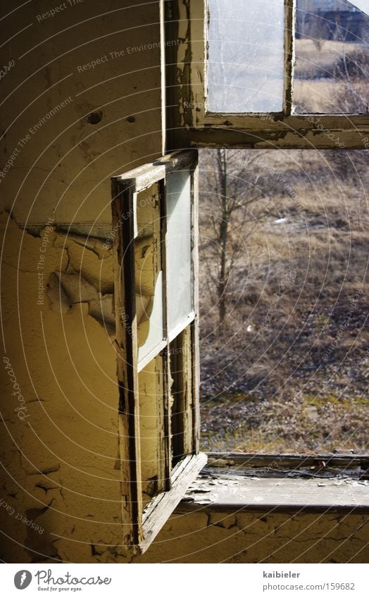
<path fill-rule="evenodd" d="M 204 268 L 201 273 L 208 448 L 364 449 L 367 159 L 364 152 L 270 151 L 258 161 L 257 226 L 251 234 L 237 231 L 244 251 L 227 287 L 220 328 Z M 214 211 L 204 179 L 201 235 L 211 237 L 207 214 Z M 235 218 L 236 228 L 239 214 Z M 288 280 L 291 270 L 296 275 Z"/>

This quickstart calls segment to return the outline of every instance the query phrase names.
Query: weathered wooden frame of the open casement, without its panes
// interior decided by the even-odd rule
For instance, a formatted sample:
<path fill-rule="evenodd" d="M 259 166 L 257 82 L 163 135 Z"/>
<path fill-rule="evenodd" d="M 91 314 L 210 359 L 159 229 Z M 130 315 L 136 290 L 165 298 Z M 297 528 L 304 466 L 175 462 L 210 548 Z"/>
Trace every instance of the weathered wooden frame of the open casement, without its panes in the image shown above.
<path fill-rule="evenodd" d="M 191 321 L 176 330 L 191 335 L 191 355 L 187 356 L 186 368 L 191 368 L 192 392 L 185 401 L 181 417 L 183 435 L 182 459 L 173 466 L 170 408 L 170 342 L 173 334 L 166 330 L 167 306 L 165 280 L 165 251 L 162 250 L 163 308 L 165 340 L 158 344 L 146 363 L 159 353 L 163 356 L 163 401 L 158 415 L 161 430 L 158 442 L 158 480 L 156 496 L 144 508 L 142 502 L 142 468 L 140 446 L 140 413 L 138 386 L 137 317 L 135 306 L 135 198 L 137 194 L 158 184 L 160 189 L 161 244 L 166 246 L 165 180 L 168 174 L 188 170 L 192 180 L 192 272 L 194 312 Z M 115 284 L 115 322 L 117 339 L 117 370 L 119 387 L 119 439 L 121 492 L 123 497 L 123 545 L 133 552 L 142 553 L 151 544 L 163 523 L 180 502 L 189 484 L 196 478 L 207 461 L 199 452 L 199 323 L 198 323 L 198 238 L 197 238 L 197 152 L 182 151 L 165 156 L 156 163 L 142 166 L 112 180 L 113 192 L 113 253 Z M 122 316 L 124 314 L 124 317 Z"/>

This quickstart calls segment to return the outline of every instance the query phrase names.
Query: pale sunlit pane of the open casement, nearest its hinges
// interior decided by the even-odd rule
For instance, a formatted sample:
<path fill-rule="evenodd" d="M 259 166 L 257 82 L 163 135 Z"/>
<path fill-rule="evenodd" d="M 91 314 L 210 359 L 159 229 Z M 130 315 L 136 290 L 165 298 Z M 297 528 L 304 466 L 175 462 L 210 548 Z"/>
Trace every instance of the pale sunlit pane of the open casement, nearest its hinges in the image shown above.
<path fill-rule="evenodd" d="M 192 312 L 191 176 L 173 173 L 167 179 L 168 331 L 188 323 Z"/>

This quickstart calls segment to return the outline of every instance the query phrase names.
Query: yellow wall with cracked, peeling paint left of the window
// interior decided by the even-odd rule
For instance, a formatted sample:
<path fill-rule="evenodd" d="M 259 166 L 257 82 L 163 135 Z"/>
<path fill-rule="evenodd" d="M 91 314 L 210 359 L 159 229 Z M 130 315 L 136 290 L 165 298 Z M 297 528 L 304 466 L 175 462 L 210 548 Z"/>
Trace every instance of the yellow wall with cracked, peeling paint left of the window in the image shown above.
<path fill-rule="evenodd" d="M 16 4 L 1 6 L 0 558 L 93 562 L 122 552 L 111 176 L 162 154 L 159 3 Z"/>

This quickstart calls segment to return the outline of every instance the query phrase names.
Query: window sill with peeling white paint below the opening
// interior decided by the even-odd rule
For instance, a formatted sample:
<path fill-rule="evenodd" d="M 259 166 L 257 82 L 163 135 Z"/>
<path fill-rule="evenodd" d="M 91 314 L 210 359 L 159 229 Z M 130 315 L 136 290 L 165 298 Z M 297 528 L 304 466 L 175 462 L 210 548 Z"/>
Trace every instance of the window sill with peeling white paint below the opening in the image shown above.
<path fill-rule="evenodd" d="M 177 511 L 369 513 L 368 477 L 367 455 L 208 454 Z"/>

